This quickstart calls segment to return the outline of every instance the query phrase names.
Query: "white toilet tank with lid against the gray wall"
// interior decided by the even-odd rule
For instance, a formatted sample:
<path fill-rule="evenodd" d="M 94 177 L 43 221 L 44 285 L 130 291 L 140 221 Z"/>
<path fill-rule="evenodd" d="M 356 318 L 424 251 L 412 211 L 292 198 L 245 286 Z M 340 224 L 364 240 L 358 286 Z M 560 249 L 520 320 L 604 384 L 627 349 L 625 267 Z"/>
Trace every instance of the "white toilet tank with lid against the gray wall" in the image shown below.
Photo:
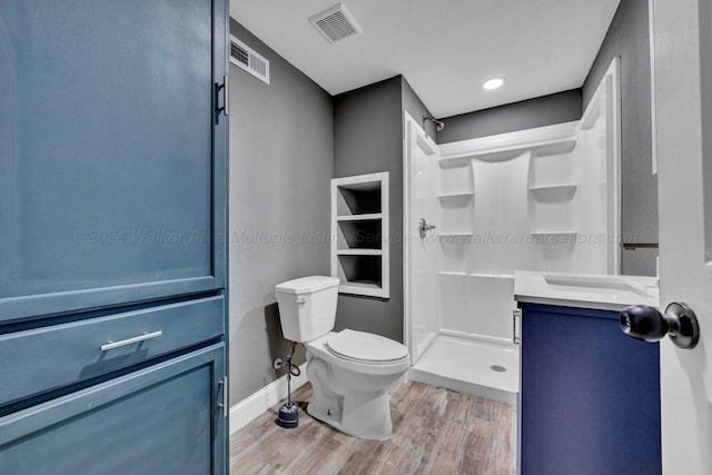
<path fill-rule="evenodd" d="M 336 321 L 338 284 L 337 277 L 310 276 L 275 287 L 285 338 L 309 342 L 332 331 Z"/>

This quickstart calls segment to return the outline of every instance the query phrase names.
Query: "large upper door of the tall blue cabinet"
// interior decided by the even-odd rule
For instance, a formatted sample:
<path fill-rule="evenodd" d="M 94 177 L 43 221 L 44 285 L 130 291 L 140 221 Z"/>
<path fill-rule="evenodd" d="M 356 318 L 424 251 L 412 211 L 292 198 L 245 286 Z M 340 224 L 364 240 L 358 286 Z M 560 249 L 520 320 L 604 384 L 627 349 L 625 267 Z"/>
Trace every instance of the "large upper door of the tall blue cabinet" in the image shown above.
<path fill-rule="evenodd" d="M 0 325 L 225 286 L 227 18 L 0 2 Z"/>

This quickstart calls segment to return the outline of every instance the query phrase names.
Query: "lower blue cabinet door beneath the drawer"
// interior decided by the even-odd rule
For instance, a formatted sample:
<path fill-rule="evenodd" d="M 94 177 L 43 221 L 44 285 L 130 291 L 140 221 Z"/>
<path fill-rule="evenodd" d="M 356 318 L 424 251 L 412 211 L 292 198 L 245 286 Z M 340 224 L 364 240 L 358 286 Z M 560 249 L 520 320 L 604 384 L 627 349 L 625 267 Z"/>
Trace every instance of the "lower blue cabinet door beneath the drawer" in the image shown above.
<path fill-rule="evenodd" d="M 227 474 L 224 346 L 0 418 L 3 475 Z"/>

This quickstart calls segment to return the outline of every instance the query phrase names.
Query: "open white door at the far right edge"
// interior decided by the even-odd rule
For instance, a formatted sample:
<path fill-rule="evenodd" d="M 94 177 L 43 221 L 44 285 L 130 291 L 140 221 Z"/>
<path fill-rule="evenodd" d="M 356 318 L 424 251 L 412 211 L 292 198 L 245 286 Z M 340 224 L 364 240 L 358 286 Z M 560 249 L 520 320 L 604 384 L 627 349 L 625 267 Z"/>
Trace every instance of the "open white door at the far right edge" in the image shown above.
<path fill-rule="evenodd" d="M 686 303 L 701 330 L 693 349 L 661 342 L 663 473 L 706 475 L 712 473 L 712 12 L 708 0 L 652 4 L 661 309 Z"/>

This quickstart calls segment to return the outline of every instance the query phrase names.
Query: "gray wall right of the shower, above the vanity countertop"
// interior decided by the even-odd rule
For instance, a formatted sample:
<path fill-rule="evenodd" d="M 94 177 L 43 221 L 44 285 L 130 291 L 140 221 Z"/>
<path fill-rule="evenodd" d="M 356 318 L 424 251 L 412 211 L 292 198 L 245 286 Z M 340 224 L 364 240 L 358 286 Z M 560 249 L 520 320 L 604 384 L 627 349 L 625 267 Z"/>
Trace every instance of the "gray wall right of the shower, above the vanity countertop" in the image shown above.
<path fill-rule="evenodd" d="M 657 177 L 652 175 L 647 0 L 622 0 L 583 85 L 584 108 L 621 57 L 622 239 L 657 243 Z M 623 274 L 655 275 L 656 249 L 622 251 Z"/>

